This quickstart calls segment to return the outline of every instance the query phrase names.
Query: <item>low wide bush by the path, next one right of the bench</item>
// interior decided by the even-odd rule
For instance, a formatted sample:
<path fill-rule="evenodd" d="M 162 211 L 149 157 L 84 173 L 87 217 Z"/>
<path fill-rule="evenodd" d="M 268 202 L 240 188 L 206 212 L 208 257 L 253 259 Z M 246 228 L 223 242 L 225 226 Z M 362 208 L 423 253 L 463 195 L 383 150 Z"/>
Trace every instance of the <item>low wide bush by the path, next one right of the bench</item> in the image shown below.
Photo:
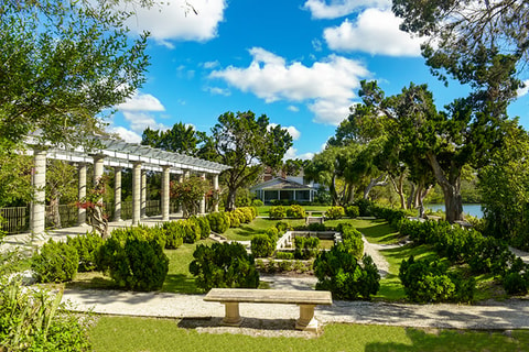
<path fill-rule="evenodd" d="M 474 297 L 475 280 L 463 279 L 447 271 L 441 262 L 417 261 L 413 255 L 403 260 L 399 278 L 408 298 L 417 302 L 469 302 Z"/>

